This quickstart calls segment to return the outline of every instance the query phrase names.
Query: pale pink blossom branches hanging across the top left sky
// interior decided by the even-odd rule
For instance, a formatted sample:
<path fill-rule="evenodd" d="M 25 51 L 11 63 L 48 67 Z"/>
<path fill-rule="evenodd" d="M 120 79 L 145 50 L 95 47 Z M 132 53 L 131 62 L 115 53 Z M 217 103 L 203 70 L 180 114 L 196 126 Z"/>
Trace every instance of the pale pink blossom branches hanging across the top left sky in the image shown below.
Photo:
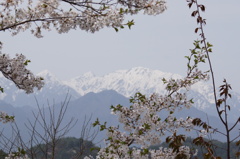
<path fill-rule="evenodd" d="M 42 29 L 51 28 L 59 33 L 77 28 L 95 32 L 104 27 L 122 28 L 127 14 L 157 15 L 165 10 L 164 0 L 5 0 L 0 3 L 0 31 L 16 35 L 31 29 L 38 38 Z"/>

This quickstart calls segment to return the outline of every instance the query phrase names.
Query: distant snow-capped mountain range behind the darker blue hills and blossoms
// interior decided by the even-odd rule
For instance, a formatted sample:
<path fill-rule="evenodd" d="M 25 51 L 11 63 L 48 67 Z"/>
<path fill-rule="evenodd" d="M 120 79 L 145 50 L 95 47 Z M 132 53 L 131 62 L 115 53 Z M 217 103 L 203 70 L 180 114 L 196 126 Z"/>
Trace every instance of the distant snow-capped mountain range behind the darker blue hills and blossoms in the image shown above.
<path fill-rule="evenodd" d="M 165 93 L 163 78 L 182 78 L 178 74 L 143 67 L 118 70 L 104 76 L 96 76 L 87 72 L 67 81 L 58 80 L 55 75 L 47 70 L 38 75 L 44 78 L 45 86 L 40 91 L 35 91 L 30 95 L 18 90 L 11 81 L 0 77 L 0 85 L 4 88 L 4 93 L 0 94 L 0 99 L 13 106 L 36 107 L 37 104 L 47 106 L 49 102 L 59 103 L 65 98 L 66 94 L 70 94 L 72 100 L 76 100 L 87 93 L 98 93 L 103 90 L 114 90 L 129 98 L 136 92 L 146 95 L 152 93 L 163 94 Z M 207 112 L 209 115 L 216 115 L 212 90 L 209 82 L 198 82 L 191 87 L 188 96 L 194 99 L 194 107 Z M 233 110 L 231 119 L 234 120 L 239 117 L 240 95 L 232 92 L 232 99 L 229 101 Z"/>

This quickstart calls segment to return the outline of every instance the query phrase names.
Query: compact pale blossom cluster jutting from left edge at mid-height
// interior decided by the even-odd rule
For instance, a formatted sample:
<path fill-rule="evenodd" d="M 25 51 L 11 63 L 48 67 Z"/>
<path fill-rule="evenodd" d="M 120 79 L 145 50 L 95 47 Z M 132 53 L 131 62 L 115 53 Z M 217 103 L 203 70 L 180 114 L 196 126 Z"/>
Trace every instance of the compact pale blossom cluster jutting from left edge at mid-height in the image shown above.
<path fill-rule="evenodd" d="M 30 62 L 22 54 L 17 54 L 15 58 L 10 58 L 7 54 L 0 54 L 0 71 L 7 79 L 24 90 L 26 93 L 32 93 L 34 88 L 43 87 L 43 79 L 35 77 L 26 66 Z"/>

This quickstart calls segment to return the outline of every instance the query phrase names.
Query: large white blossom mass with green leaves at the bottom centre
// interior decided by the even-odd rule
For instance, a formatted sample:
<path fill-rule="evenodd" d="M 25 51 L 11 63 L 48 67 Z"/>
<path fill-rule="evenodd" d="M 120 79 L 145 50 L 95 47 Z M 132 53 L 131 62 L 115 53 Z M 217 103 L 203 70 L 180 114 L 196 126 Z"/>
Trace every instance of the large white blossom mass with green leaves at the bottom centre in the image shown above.
<path fill-rule="evenodd" d="M 176 133 L 179 128 L 187 131 L 193 128 L 192 118 L 174 117 L 176 109 L 192 105 L 185 93 L 175 93 L 173 96 L 152 94 L 149 98 L 137 93 L 131 102 L 130 107 L 112 106 L 112 114 L 118 116 L 125 131 L 113 126 L 106 128 L 107 147 L 99 151 L 98 158 L 174 158 L 178 154 L 190 156 L 189 148 L 181 148 L 178 152 L 171 148 L 148 150 L 149 146 L 160 144 L 161 138 L 169 132 Z M 140 148 L 131 148 L 130 145 Z"/>

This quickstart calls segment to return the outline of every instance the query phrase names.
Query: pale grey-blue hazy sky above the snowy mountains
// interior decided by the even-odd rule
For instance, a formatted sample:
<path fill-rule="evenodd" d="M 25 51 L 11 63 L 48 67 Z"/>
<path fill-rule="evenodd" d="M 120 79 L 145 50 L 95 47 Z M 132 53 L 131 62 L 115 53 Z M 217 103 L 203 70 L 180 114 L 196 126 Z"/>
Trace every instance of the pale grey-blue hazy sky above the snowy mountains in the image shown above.
<path fill-rule="evenodd" d="M 207 40 L 214 45 L 211 55 L 216 80 L 227 78 L 240 92 L 240 1 L 199 1 L 206 6 L 203 17 Z M 158 16 L 138 15 L 131 30 L 118 33 L 106 28 L 97 33 L 74 30 L 68 34 L 44 32 L 37 39 L 29 32 L 11 37 L 0 33 L 4 52 L 23 53 L 32 62 L 29 69 L 38 73 L 50 70 L 61 80 L 85 72 L 104 75 L 118 69 L 143 66 L 184 75 L 186 59 L 197 27 L 185 0 L 169 0 L 168 9 Z"/>

